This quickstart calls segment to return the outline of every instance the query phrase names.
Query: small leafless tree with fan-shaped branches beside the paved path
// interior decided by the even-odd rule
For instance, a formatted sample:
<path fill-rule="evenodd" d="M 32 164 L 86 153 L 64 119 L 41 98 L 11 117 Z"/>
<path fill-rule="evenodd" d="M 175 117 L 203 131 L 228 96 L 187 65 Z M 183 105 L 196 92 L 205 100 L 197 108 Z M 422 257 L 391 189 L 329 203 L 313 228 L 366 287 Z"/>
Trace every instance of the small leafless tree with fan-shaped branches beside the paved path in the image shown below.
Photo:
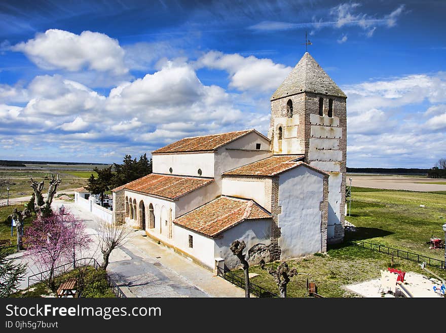
<path fill-rule="evenodd" d="M 104 260 L 101 264 L 101 269 L 106 270 L 110 253 L 127 242 L 132 230 L 126 228 L 125 225 L 117 225 L 99 220 L 97 232 L 99 248 L 101 249 Z"/>

